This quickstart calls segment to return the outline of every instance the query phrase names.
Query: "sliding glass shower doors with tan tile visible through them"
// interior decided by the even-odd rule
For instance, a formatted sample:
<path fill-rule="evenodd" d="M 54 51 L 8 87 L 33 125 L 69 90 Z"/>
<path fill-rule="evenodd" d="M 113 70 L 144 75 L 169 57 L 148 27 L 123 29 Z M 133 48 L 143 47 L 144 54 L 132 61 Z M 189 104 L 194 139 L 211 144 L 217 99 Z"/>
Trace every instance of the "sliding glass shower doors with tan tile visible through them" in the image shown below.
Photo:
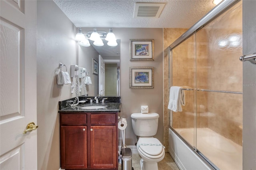
<path fill-rule="evenodd" d="M 242 169 L 242 1 L 170 45 L 170 86 L 185 106 L 171 129 L 215 169 Z"/>

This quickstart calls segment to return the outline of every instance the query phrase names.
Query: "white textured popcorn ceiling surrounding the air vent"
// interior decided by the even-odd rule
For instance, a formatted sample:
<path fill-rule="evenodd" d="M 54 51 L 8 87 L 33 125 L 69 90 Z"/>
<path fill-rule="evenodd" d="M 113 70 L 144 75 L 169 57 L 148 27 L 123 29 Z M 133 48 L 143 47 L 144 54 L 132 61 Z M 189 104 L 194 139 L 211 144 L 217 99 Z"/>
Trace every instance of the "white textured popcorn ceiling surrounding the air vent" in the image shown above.
<path fill-rule="evenodd" d="M 54 0 L 76 27 L 190 28 L 212 0 Z M 136 2 L 165 3 L 159 18 L 133 18 Z"/>

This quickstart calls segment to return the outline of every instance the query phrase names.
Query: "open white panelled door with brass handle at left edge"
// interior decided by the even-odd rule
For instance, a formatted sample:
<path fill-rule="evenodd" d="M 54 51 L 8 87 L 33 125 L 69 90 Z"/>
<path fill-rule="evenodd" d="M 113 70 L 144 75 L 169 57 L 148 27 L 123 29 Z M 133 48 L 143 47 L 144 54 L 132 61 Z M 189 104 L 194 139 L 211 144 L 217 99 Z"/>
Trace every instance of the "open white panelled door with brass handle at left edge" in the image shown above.
<path fill-rule="evenodd" d="M 0 0 L 0 52 L 0 169 L 36 170 L 36 1 Z"/>

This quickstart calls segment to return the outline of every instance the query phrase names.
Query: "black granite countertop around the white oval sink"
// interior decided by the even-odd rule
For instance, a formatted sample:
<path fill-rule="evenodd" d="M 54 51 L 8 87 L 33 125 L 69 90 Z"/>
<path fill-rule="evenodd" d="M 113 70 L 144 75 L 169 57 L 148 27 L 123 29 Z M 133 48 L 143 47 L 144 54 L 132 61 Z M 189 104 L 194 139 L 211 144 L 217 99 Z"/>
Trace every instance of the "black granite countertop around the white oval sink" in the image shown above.
<path fill-rule="evenodd" d="M 121 106 L 122 103 L 104 103 L 104 105 L 107 105 L 107 107 L 102 108 L 102 109 L 81 109 L 81 107 L 87 106 L 87 105 L 103 105 L 101 103 L 99 104 L 80 104 L 77 107 L 66 107 L 64 109 L 59 110 L 58 112 L 84 112 L 84 113 L 92 113 L 92 112 L 100 112 L 100 113 L 110 113 L 110 112 L 120 112 L 121 111 Z"/>

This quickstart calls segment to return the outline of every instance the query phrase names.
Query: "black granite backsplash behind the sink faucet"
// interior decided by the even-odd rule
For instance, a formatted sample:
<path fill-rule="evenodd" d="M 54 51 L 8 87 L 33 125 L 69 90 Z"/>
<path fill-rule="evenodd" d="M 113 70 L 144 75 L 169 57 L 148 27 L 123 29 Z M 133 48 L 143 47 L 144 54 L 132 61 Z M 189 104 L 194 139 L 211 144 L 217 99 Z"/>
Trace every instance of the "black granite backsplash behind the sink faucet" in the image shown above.
<path fill-rule="evenodd" d="M 95 96 L 79 96 L 79 101 L 86 101 L 86 103 L 90 103 L 90 100 L 87 98 L 94 99 Z M 105 103 L 121 103 L 121 97 L 120 96 L 100 96 L 99 101 L 102 101 L 102 99 L 108 98 L 105 100 Z M 59 101 L 59 110 L 63 110 L 67 107 L 70 107 L 69 101 L 74 101 L 76 97 L 66 99 L 63 101 Z M 81 103 L 78 106 L 84 105 L 86 103 Z"/>

